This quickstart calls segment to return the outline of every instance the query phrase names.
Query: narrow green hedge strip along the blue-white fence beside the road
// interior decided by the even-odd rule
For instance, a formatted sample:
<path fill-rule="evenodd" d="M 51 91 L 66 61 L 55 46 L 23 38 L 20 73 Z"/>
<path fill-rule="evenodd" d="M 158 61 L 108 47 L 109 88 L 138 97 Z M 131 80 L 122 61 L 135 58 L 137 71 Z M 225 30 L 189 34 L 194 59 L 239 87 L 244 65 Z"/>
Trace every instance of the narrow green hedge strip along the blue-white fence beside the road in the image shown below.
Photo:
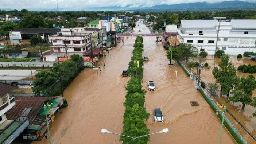
<path fill-rule="evenodd" d="M 203 92 L 202 89 L 198 89 L 198 91 L 201 93 L 203 98 L 205 98 L 206 102 L 210 105 L 212 108 L 213 112 L 216 112 L 216 108 L 213 106 L 212 102 L 209 101 L 209 99 L 206 97 L 205 93 Z M 222 115 L 218 114 L 218 118 L 222 121 Z M 238 144 L 243 144 L 243 142 L 239 139 L 239 137 L 236 135 L 236 133 L 233 131 L 233 129 L 229 126 L 229 124 L 224 120 L 224 125 L 228 129 L 229 133 L 233 136 L 233 138 L 236 140 Z"/>

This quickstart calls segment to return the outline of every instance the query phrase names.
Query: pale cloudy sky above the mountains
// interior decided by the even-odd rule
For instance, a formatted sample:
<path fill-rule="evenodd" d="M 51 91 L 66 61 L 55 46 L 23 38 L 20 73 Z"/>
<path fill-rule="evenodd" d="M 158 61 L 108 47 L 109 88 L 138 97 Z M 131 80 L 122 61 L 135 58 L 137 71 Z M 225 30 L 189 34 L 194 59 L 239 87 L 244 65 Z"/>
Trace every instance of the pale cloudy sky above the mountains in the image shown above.
<path fill-rule="evenodd" d="M 193 2 L 216 3 L 228 0 L 0 0 L 0 9 L 54 9 L 58 3 L 62 10 L 85 10 L 92 7 L 150 7 L 158 4 L 179 4 Z M 229 0 L 230 1 L 230 0 Z M 256 2 L 256 0 L 241 0 Z"/>

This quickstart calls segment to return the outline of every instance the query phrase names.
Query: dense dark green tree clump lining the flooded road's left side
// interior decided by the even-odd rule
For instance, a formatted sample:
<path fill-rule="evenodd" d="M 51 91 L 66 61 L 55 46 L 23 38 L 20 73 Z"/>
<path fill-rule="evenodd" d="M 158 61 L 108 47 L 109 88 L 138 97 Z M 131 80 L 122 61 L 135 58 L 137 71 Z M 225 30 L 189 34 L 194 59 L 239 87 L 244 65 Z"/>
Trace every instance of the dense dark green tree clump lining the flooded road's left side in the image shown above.
<path fill-rule="evenodd" d="M 40 71 L 32 88 L 35 96 L 59 96 L 83 68 L 82 57 L 71 55 L 70 60 L 54 64 L 50 71 Z"/>

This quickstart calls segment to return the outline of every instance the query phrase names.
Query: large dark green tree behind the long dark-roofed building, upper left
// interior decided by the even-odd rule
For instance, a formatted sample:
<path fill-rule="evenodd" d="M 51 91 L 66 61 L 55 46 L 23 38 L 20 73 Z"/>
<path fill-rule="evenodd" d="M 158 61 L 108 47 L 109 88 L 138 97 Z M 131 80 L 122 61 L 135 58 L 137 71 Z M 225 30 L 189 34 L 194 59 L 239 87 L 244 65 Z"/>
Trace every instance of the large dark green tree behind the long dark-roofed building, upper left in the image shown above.
<path fill-rule="evenodd" d="M 44 28 L 47 26 L 43 17 L 38 13 L 26 12 L 20 23 L 23 28 Z"/>

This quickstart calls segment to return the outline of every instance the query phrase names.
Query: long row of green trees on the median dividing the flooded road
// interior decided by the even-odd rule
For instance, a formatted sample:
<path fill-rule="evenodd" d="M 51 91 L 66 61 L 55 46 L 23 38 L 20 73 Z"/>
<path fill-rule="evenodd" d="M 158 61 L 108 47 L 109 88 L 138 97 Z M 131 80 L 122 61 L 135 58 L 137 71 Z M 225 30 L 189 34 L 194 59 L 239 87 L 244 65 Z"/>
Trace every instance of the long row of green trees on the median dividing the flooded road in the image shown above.
<path fill-rule="evenodd" d="M 129 75 L 131 79 L 125 87 L 125 113 L 123 120 L 123 135 L 138 137 L 148 135 L 149 129 L 145 124 L 145 120 L 149 118 L 149 114 L 144 108 L 146 91 L 142 89 L 141 81 L 143 74 L 143 38 L 137 37 L 132 51 L 132 59 L 129 62 Z M 125 144 L 133 144 L 133 139 L 121 136 L 120 140 Z M 136 140 L 137 144 L 147 144 L 150 141 L 149 136 L 141 137 Z"/>

